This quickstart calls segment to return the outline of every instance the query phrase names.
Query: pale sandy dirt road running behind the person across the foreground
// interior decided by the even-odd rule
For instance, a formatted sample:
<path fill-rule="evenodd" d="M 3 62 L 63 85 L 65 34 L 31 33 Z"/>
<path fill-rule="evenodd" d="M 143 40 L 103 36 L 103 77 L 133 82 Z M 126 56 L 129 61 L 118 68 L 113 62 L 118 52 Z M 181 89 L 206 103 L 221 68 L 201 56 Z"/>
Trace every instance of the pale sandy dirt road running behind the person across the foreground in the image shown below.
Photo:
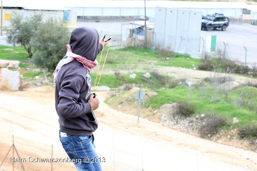
<path fill-rule="evenodd" d="M 256 170 L 257 153 L 172 130 L 158 123 L 110 109 L 98 92 L 99 128 L 94 133 L 103 170 Z M 67 158 L 59 141 L 58 116 L 51 87 L 0 91 L 0 163 L 14 145 L 26 170 L 51 170 L 51 163 L 29 158 Z M 53 145 L 53 153 L 51 152 Z M 14 155 L 15 156 L 15 155 Z M 11 170 L 12 150 L 0 170 Z M 22 170 L 15 163 L 15 170 Z M 76 170 L 72 163 L 53 163 L 53 170 Z"/>

